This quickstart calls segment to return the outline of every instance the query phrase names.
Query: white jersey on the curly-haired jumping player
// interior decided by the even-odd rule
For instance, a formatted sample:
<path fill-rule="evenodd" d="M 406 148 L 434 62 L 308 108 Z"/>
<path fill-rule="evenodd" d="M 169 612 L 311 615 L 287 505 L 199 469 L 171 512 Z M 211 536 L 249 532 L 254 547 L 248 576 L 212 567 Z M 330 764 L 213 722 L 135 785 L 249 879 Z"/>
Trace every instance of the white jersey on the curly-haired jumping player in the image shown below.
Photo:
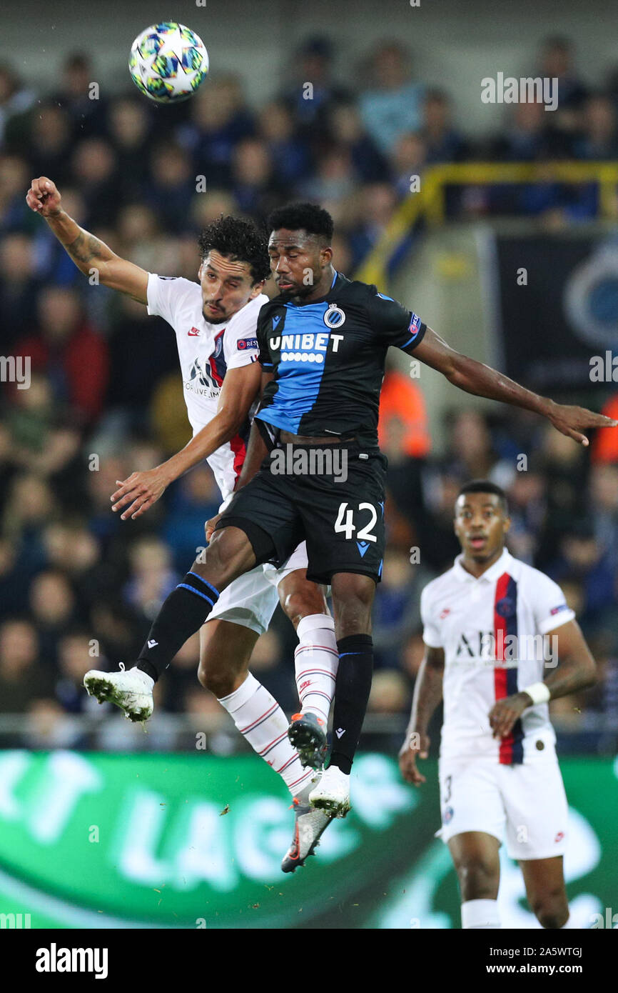
<path fill-rule="evenodd" d="M 186 413 L 193 435 L 212 420 L 227 369 L 258 360 L 257 320 L 268 302 L 261 293 L 227 324 L 210 324 L 201 312 L 201 287 L 190 279 L 148 276 L 148 313 L 162 317 L 176 332 Z M 256 403 L 257 406 L 257 403 Z M 223 498 L 232 493 L 249 437 L 249 421 L 207 459 Z"/>

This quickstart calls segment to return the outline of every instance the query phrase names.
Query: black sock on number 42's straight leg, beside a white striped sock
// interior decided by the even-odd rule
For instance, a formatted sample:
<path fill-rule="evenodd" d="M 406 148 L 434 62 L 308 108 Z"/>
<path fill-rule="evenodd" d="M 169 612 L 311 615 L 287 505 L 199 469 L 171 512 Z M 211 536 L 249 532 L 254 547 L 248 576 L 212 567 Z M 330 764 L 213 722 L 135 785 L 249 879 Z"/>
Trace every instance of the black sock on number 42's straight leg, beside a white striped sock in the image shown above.
<path fill-rule="evenodd" d="M 369 701 L 373 673 L 371 635 L 337 641 L 339 667 L 334 684 L 330 766 L 349 776 Z"/>

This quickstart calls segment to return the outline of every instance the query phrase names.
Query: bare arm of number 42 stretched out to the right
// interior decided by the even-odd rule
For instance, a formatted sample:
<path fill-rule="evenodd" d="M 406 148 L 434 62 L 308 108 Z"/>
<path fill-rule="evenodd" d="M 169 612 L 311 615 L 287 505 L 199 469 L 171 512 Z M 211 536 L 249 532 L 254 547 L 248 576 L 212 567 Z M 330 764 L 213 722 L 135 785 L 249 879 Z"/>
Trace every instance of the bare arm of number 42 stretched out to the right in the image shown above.
<path fill-rule="evenodd" d="M 588 439 L 582 434 L 587 428 L 616 427 L 618 424 L 618 421 L 612 421 L 603 414 L 595 414 L 585 407 L 555 403 L 554 400 L 525 389 L 490 365 L 455 352 L 431 328 L 427 329 L 423 341 L 411 354 L 437 369 L 453 386 L 458 386 L 466 393 L 501 400 L 515 407 L 524 407 L 525 410 L 534 410 L 542 417 L 547 417 L 560 434 L 567 435 L 581 445 L 588 444 Z"/>

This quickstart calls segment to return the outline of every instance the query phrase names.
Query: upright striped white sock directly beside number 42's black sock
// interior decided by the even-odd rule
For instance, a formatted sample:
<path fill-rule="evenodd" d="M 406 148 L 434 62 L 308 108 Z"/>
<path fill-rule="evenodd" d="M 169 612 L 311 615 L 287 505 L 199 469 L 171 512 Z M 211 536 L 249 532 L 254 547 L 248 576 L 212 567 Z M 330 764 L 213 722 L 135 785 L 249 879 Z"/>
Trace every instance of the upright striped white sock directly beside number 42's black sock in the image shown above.
<path fill-rule="evenodd" d="M 301 710 L 327 723 L 339 664 L 334 621 L 327 614 L 311 614 L 299 623 L 297 635 L 295 668 Z"/>

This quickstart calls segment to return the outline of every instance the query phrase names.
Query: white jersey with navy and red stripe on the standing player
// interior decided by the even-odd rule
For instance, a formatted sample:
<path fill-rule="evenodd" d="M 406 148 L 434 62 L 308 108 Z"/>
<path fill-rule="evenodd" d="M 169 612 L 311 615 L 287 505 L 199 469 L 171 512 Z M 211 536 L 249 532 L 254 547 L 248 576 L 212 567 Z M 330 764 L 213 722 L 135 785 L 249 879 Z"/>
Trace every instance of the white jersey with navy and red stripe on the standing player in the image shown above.
<path fill-rule="evenodd" d="M 552 579 L 506 549 L 478 579 L 462 557 L 421 595 L 423 639 L 444 649 L 440 757 L 494 755 L 505 765 L 548 758 L 556 735 L 547 703 L 525 710 L 500 741 L 488 715 L 496 700 L 557 665 L 556 645 L 543 636 L 575 615 Z"/>

